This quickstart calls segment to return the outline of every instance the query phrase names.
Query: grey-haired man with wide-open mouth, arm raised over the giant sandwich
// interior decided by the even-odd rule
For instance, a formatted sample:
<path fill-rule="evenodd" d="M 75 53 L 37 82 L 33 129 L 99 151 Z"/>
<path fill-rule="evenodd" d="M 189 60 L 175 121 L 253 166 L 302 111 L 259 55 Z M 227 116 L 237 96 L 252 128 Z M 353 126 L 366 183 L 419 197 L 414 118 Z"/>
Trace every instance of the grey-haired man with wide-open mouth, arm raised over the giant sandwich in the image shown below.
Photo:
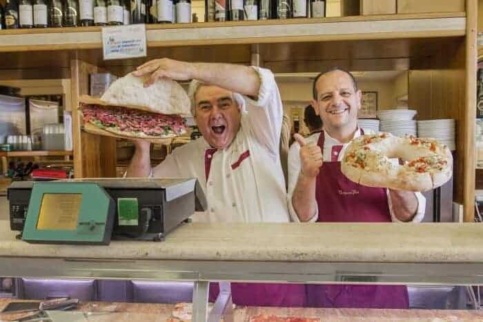
<path fill-rule="evenodd" d="M 195 177 L 208 210 L 201 222 L 288 222 L 284 174 L 279 158 L 283 108 L 270 70 L 221 63 L 155 59 L 135 76 L 189 80 L 191 113 L 202 137 L 177 148 L 155 168 L 150 144 L 135 141 L 128 177 Z M 304 306 L 304 285 L 232 283 L 238 305 Z M 210 300 L 217 296 L 210 284 Z"/>

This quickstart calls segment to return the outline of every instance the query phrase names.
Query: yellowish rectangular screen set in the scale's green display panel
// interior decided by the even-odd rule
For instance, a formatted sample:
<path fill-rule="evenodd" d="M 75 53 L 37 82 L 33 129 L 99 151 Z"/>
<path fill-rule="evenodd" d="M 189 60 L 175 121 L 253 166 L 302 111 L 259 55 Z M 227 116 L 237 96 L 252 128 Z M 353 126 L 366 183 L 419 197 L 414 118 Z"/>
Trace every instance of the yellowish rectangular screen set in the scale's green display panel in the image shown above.
<path fill-rule="evenodd" d="M 43 194 L 37 230 L 76 230 L 82 194 Z"/>

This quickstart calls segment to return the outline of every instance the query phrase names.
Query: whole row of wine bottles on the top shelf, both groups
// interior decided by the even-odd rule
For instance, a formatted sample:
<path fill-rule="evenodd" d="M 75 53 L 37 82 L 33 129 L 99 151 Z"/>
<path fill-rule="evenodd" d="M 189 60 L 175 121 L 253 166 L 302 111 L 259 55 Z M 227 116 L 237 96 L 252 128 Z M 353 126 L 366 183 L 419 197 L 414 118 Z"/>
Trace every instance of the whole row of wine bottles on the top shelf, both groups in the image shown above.
<path fill-rule="evenodd" d="M 205 21 L 325 17 L 325 12 L 325 0 L 205 0 Z M 6 0 L 5 8 L 0 4 L 0 29 L 190 22 L 191 0 Z"/>

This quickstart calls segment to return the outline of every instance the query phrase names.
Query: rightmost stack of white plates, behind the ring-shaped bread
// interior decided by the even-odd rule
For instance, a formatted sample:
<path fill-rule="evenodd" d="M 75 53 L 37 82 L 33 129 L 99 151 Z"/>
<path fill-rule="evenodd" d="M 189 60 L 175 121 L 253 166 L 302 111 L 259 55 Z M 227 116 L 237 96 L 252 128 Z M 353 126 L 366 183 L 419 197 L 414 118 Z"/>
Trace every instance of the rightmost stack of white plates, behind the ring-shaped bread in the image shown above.
<path fill-rule="evenodd" d="M 432 137 L 446 144 L 449 150 L 456 150 L 456 130 L 453 119 L 417 121 L 417 136 Z"/>

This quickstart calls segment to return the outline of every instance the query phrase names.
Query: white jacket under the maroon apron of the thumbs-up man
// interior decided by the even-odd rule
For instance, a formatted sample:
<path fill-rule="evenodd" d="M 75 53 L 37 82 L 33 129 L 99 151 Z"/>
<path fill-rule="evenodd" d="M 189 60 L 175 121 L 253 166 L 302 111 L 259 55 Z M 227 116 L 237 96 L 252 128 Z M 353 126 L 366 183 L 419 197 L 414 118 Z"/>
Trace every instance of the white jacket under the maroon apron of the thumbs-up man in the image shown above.
<path fill-rule="evenodd" d="M 331 137 L 327 132 L 325 132 L 325 141 L 324 141 L 324 151 L 323 151 L 323 157 L 324 161 L 329 162 L 332 160 L 331 154 L 334 153 L 334 155 L 337 155 L 337 161 L 341 161 L 342 157 L 344 157 L 344 152 L 346 151 L 346 148 L 349 143 L 342 144 L 337 139 L 334 139 Z M 364 134 L 373 134 L 374 132 L 371 130 L 364 130 Z M 310 137 L 307 137 L 305 140 L 306 142 L 315 142 L 317 143 L 319 141 L 321 133 L 315 133 L 312 134 Z M 360 137 L 361 132 L 360 129 L 357 129 L 357 131 L 354 134 L 354 138 Z M 342 150 L 340 152 L 334 151 L 333 152 L 333 146 L 334 145 L 342 145 Z M 295 190 L 295 185 L 297 185 L 297 180 L 299 178 L 299 173 L 300 169 L 302 168 L 302 162 L 300 161 L 300 145 L 298 142 L 293 143 L 293 145 L 290 147 L 290 150 L 288 151 L 288 209 L 290 211 L 290 217 L 293 219 L 293 221 L 299 221 L 299 217 L 297 216 L 297 212 L 295 212 L 295 209 L 293 208 L 292 204 L 292 196 L 293 192 Z M 393 210 L 393 204 L 391 203 L 391 194 L 389 194 L 389 190 L 386 189 L 386 193 L 388 195 L 388 205 L 389 205 L 389 212 L 391 212 L 391 219 L 392 221 L 400 222 L 397 217 L 394 215 L 394 210 Z M 421 192 L 416 192 L 415 193 L 416 198 L 417 198 L 417 212 L 415 214 L 415 217 L 413 217 L 413 220 L 411 222 L 413 223 L 419 223 L 422 221 L 424 217 L 424 212 L 426 211 L 426 198 L 421 194 Z M 311 219 L 311 221 L 317 221 L 317 216 L 318 216 L 318 210 L 317 214 Z"/>

